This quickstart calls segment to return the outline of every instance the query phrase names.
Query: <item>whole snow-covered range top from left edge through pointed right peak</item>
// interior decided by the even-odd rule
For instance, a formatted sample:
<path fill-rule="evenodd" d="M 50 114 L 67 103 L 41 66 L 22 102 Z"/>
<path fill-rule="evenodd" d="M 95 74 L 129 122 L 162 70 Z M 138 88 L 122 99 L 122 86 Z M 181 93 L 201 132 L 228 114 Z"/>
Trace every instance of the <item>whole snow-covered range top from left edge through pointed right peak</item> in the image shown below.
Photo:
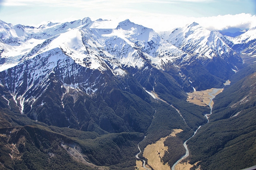
<path fill-rule="evenodd" d="M 212 59 L 233 52 L 232 42 L 196 22 L 161 36 L 129 19 L 115 27 L 113 23 L 86 17 L 34 28 L 0 21 L 0 56 L 4 58 L 0 70 L 56 48 L 82 67 L 111 70 L 115 75 L 125 74 L 125 67 L 143 68 L 145 63 L 163 69 L 166 64 L 184 65 L 193 58 Z"/>

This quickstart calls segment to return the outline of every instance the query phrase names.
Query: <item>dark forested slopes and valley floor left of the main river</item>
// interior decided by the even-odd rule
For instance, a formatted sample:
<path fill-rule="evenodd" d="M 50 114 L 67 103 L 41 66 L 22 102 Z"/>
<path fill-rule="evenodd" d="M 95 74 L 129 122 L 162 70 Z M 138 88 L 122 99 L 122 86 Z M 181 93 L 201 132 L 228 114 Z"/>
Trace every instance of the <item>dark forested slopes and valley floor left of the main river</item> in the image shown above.
<path fill-rule="evenodd" d="M 91 96 L 75 89 L 67 92 L 58 75 L 51 73 L 50 86 L 35 102 L 24 103 L 24 114 L 20 114 L 19 103 L 15 103 L 6 87 L 1 86 L 2 167 L 134 169 L 137 144 L 143 153 L 148 144 L 170 135 L 172 129 L 183 129 L 175 139 L 165 142 L 169 148 L 172 142 L 181 148 L 175 147 L 163 157 L 164 163 L 173 164 L 184 154 L 182 143 L 207 122 L 204 114 L 210 109 L 186 102 L 187 94 L 181 85 L 187 80 L 179 78 L 178 70 L 170 67 L 167 73 L 151 68 L 130 70 L 134 74 L 127 74 L 126 78 L 113 78 L 106 72 L 107 85 Z M 167 103 L 152 98 L 143 87 L 154 89 Z M 171 104 L 180 110 L 186 122 Z M 8 134 L 9 131 L 13 132 Z M 67 147 L 73 151 L 79 148 L 82 158 L 72 156 Z M 171 153 L 176 156 L 170 159 Z"/>

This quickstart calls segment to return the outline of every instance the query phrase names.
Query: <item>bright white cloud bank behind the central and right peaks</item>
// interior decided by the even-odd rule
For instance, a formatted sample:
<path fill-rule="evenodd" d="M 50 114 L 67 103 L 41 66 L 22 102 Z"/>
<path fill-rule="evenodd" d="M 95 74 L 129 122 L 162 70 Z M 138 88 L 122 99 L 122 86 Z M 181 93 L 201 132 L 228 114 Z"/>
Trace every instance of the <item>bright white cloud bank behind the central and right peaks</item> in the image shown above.
<path fill-rule="evenodd" d="M 163 15 L 134 11 L 130 15 L 121 15 L 118 20 L 125 20 L 127 18 L 136 24 L 153 28 L 156 31 L 169 31 L 193 22 L 197 22 L 209 30 L 223 30 L 232 27 L 242 29 L 256 26 L 256 16 L 245 13 L 237 15 L 219 15 L 215 17 L 195 18 L 181 15 Z M 111 19 L 111 16 L 109 16 L 108 19 Z"/>

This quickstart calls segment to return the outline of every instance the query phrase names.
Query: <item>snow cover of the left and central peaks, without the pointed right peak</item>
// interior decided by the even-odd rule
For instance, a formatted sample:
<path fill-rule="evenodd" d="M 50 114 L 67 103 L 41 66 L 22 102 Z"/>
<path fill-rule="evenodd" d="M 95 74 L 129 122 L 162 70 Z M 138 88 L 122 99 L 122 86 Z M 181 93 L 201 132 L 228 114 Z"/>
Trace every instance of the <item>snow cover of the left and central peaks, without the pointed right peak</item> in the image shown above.
<path fill-rule="evenodd" d="M 177 59 L 181 62 L 189 58 L 150 28 L 124 20 L 115 29 L 98 29 L 108 23 L 109 20 L 84 18 L 65 23 L 48 22 L 39 28 L 12 26 L 10 29 L 14 31 L 6 32 L 16 33 L 17 45 L 1 42 L 1 57 L 6 58 L 2 70 L 56 48 L 83 67 L 110 69 L 113 74 L 124 74 L 122 67 L 142 68 L 146 60 L 161 68 Z M 17 35 L 20 31 L 24 32 L 19 34 L 22 36 Z"/>

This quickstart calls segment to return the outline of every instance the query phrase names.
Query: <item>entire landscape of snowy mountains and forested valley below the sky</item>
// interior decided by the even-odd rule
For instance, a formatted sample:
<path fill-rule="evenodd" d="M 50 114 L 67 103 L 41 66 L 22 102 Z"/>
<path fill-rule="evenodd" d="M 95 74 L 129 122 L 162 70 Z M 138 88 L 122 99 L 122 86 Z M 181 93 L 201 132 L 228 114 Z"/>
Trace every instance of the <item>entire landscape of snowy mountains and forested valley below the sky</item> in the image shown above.
<path fill-rule="evenodd" d="M 0 20 L 0 169 L 256 165 L 256 28 L 112 23 Z M 209 89 L 213 107 L 187 100 Z"/>

